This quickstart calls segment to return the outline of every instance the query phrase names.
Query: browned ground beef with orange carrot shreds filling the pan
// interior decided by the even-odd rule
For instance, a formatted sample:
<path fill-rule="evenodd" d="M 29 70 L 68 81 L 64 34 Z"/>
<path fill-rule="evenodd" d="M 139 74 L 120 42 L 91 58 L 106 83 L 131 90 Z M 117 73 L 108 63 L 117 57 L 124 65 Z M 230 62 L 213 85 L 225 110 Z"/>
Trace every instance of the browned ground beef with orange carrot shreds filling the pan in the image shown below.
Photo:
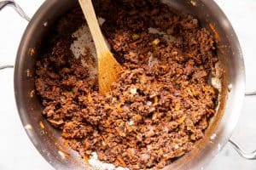
<path fill-rule="evenodd" d="M 97 82 L 88 81 L 88 68 L 70 50 L 73 31 L 84 24 L 76 8 L 47 38 L 37 60 L 37 93 L 44 116 L 81 156 L 96 151 L 116 166 L 164 167 L 204 137 L 217 105 L 218 92 L 208 79 L 218 58 L 212 36 L 193 16 L 156 0 L 127 2 L 95 5 L 106 19 L 104 36 L 125 68 L 113 91 L 98 94 Z M 148 33 L 148 27 L 169 39 Z"/>

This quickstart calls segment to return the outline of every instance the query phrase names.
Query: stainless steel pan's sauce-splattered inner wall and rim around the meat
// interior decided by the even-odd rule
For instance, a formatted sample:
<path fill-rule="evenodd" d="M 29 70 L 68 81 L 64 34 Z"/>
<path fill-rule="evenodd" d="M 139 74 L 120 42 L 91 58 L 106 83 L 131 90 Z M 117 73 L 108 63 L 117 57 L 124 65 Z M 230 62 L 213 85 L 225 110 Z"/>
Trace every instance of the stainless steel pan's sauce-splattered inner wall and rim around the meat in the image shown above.
<path fill-rule="evenodd" d="M 171 8 L 194 14 L 201 21 L 202 26 L 209 28 L 212 35 L 220 39 L 218 56 L 224 66 L 225 74 L 218 114 L 207 129 L 206 138 L 195 146 L 196 149 L 166 167 L 168 169 L 199 169 L 219 152 L 236 126 L 242 104 L 239 101 L 243 99 L 244 93 L 244 66 L 241 49 L 229 20 L 212 1 L 163 0 L 163 3 L 167 3 Z M 61 15 L 77 5 L 76 1 L 69 0 L 46 1 L 27 26 L 15 63 L 15 98 L 21 121 L 32 143 L 56 169 L 90 169 L 92 167 L 85 165 L 76 152 L 69 150 L 61 143 L 60 134 L 42 116 L 40 101 L 36 95 L 33 95 L 32 75 L 35 58 L 38 57 L 38 48 L 44 45 L 41 41 L 49 31 L 49 27 Z M 32 48 L 35 54 L 31 56 Z M 228 93 L 228 83 L 232 84 L 230 93 Z M 217 134 L 214 141 L 210 141 L 212 133 Z"/>

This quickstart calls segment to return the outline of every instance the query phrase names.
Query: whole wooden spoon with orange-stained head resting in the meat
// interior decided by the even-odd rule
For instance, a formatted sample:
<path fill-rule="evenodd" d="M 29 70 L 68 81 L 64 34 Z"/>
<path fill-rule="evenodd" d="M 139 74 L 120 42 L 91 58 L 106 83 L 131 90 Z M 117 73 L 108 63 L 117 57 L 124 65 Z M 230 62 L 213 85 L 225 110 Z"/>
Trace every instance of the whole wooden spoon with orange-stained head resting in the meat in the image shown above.
<path fill-rule="evenodd" d="M 100 94 L 106 94 L 111 91 L 112 83 L 117 82 L 119 73 L 123 69 L 108 49 L 98 21 L 96 20 L 96 14 L 91 0 L 79 0 L 79 3 L 96 46 L 99 91 Z"/>

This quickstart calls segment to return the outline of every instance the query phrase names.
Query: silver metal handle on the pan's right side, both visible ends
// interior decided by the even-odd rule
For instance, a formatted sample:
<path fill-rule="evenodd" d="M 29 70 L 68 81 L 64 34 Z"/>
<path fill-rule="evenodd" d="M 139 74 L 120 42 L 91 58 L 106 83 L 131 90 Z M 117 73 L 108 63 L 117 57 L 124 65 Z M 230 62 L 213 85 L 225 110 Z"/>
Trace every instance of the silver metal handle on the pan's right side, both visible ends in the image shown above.
<path fill-rule="evenodd" d="M 246 96 L 256 96 L 256 91 L 255 92 L 249 92 L 245 94 Z M 253 150 L 252 152 L 247 152 L 243 149 L 241 149 L 241 146 L 239 144 L 236 144 L 236 142 L 232 139 L 229 140 L 230 144 L 235 148 L 237 153 L 247 159 L 247 160 L 256 160 L 256 150 Z"/>

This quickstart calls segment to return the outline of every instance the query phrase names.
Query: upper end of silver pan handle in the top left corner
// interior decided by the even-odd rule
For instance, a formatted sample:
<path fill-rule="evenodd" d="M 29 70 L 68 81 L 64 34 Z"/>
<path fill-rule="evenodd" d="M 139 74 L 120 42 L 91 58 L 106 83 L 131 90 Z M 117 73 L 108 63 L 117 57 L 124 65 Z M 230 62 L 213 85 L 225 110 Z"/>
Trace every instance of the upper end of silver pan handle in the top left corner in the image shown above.
<path fill-rule="evenodd" d="M 0 10 L 8 5 L 15 8 L 15 11 L 18 14 L 20 14 L 20 16 L 22 18 L 24 18 L 27 21 L 30 21 L 30 18 L 27 16 L 27 14 L 24 12 L 24 10 L 22 8 L 20 8 L 20 5 L 18 3 L 15 3 L 14 0 L 0 0 Z"/>

